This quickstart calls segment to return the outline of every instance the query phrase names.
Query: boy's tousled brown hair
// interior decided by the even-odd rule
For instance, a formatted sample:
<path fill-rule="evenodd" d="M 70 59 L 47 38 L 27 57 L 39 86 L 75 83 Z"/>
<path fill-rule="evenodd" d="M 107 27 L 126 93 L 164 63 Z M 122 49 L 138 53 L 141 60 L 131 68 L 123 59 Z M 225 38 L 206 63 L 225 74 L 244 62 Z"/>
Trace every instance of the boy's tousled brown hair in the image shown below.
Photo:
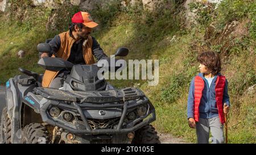
<path fill-rule="evenodd" d="M 210 70 L 210 73 L 212 73 L 213 75 L 220 73 L 221 60 L 218 53 L 213 51 L 203 52 L 199 56 L 197 56 L 196 59 L 198 62 L 200 62 L 200 64 L 207 66 L 207 69 Z"/>

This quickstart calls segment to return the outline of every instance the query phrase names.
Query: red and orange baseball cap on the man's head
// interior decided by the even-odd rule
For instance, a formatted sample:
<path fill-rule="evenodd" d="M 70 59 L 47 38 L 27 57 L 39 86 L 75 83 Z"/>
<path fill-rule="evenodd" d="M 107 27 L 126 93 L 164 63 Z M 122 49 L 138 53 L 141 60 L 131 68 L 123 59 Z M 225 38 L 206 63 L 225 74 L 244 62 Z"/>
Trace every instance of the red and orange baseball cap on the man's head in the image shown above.
<path fill-rule="evenodd" d="M 82 23 L 89 28 L 98 26 L 97 23 L 93 22 L 92 17 L 88 12 L 77 12 L 75 15 L 73 15 L 71 20 L 72 23 Z"/>

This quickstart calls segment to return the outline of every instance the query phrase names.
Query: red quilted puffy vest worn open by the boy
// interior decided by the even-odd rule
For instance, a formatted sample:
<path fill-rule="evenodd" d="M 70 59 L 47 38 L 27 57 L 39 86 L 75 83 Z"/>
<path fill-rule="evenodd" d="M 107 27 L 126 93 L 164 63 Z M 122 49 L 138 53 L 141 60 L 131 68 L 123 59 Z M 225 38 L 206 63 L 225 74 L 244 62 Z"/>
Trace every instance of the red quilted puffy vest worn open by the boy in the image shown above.
<path fill-rule="evenodd" d="M 216 104 L 218 108 L 218 116 L 220 117 L 221 124 L 225 123 L 224 112 L 223 112 L 223 91 L 225 87 L 225 76 L 217 76 L 215 94 L 216 94 Z M 200 100 L 203 94 L 204 89 L 204 80 L 200 76 L 195 77 L 195 107 L 194 107 L 194 116 L 196 122 L 199 122 L 199 105 Z"/>

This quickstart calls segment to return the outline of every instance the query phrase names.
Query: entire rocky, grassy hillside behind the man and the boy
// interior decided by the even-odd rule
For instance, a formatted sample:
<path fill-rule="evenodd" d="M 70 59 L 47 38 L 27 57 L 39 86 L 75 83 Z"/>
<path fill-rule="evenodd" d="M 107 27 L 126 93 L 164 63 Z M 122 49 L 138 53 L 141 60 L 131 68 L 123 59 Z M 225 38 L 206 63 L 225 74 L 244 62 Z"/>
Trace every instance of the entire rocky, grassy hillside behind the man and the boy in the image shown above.
<path fill-rule="evenodd" d="M 0 0 L 0 9 L 1 85 L 20 66 L 43 72 L 36 45 L 68 30 L 75 12 L 89 11 L 100 23 L 92 35 L 108 55 L 124 46 L 130 49 L 127 59 L 159 60 L 158 86 L 110 81 L 148 95 L 158 131 L 195 143 L 186 119 L 188 87 L 199 72 L 196 56 L 213 50 L 229 82 L 229 141 L 256 143 L 255 0 Z"/>

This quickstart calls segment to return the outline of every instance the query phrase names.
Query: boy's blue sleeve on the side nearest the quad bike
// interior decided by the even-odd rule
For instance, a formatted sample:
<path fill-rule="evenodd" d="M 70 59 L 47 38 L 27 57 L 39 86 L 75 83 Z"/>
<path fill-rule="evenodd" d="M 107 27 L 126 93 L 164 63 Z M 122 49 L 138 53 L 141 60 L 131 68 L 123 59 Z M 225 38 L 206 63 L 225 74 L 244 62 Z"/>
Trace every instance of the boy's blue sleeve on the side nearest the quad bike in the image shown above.
<path fill-rule="evenodd" d="M 189 118 L 194 118 L 194 108 L 195 108 L 195 103 L 194 103 L 194 90 L 195 90 L 195 78 L 192 79 L 189 87 L 189 92 L 188 92 L 188 106 L 187 106 L 187 116 Z"/>

